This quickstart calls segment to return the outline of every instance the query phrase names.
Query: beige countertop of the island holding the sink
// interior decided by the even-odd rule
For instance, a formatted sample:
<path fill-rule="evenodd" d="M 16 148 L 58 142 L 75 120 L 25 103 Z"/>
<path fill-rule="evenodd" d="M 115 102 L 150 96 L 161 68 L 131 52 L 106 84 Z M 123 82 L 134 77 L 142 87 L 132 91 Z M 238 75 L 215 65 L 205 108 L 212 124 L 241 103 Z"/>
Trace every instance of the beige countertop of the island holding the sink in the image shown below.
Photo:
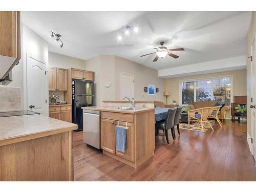
<path fill-rule="evenodd" d="M 84 106 L 82 109 L 84 110 L 95 110 L 95 111 L 107 111 L 107 112 L 116 112 L 116 113 L 129 113 L 129 114 L 135 114 L 135 113 L 143 113 L 148 111 L 154 111 L 154 108 L 145 108 L 142 110 L 119 110 L 119 109 L 109 109 L 113 106 Z"/>

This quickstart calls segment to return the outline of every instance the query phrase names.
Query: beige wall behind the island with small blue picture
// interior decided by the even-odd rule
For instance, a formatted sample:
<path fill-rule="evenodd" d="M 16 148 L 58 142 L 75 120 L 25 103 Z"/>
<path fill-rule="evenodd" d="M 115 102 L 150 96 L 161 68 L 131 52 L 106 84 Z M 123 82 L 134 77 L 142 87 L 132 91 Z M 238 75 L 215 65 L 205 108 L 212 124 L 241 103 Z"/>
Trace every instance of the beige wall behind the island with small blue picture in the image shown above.
<path fill-rule="evenodd" d="M 119 75 L 127 73 L 134 75 L 134 97 L 135 100 L 163 101 L 164 79 L 158 77 L 158 71 L 139 65 L 136 62 L 117 57 L 114 55 L 99 55 L 86 61 L 86 70 L 95 72 L 96 103 L 102 105 L 102 100 L 120 100 L 119 98 Z M 110 88 L 104 87 L 104 82 L 111 82 Z M 147 84 L 155 84 L 159 93 L 148 95 L 144 93 Z M 98 94 L 100 93 L 100 94 Z"/>

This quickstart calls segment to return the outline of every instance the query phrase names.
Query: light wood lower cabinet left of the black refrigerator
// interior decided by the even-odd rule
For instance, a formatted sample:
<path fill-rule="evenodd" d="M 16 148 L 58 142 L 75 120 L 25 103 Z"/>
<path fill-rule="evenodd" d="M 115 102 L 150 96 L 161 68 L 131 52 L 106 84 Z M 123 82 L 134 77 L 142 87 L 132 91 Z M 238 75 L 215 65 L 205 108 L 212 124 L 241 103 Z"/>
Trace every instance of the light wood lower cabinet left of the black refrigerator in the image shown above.
<path fill-rule="evenodd" d="M 61 108 L 59 106 L 50 106 L 49 117 L 72 123 L 71 108 L 71 106 L 61 106 Z"/>

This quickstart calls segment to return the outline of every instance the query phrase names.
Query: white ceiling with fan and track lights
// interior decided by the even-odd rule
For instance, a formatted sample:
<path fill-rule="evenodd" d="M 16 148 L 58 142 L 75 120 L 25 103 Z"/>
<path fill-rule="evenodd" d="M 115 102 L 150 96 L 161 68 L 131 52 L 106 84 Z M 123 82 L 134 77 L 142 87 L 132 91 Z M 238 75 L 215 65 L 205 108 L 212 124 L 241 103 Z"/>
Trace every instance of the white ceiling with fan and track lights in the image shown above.
<path fill-rule="evenodd" d="M 243 11 L 24 11 L 22 23 L 49 43 L 49 51 L 81 59 L 99 54 L 117 55 L 154 69 L 167 69 L 245 55 L 251 12 Z M 118 42 L 124 26 L 140 25 L 138 34 Z M 49 38 L 61 34 L 63 48 Z M 152 62 L 160 41 L 176 51 Z"/>

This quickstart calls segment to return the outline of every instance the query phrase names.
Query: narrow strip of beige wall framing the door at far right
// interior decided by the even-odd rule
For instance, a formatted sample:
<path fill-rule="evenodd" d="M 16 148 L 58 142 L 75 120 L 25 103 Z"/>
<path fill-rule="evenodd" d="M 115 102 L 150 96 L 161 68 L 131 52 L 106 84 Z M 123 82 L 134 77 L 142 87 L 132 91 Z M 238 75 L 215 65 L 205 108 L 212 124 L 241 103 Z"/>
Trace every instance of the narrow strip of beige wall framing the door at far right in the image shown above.
<path fill-rule="evenodd" d="M 252 11 L 251 22 L 248 28 L 247 36 L 246 36 L 246 56 L 251 56 L 251 45 L 252 41 L 255 38 L 256 33 L 256 12 Z M 254 55 L 255 57 L 255 55 Z M 250 105 L 250 95 L 251 95 L 251 62 L 250 59 L 247 59 L 247 106 Z M 254 101 L 255 104 L 255 101 Z M 252 127 L 251 127 L 251 110 L 248 108 L 247 110 L 247 138 L 252 137 Z M 255 139 L 255 136 L 253 137 Z M 254 146 L 256 147 L 256 146 Z"/>

